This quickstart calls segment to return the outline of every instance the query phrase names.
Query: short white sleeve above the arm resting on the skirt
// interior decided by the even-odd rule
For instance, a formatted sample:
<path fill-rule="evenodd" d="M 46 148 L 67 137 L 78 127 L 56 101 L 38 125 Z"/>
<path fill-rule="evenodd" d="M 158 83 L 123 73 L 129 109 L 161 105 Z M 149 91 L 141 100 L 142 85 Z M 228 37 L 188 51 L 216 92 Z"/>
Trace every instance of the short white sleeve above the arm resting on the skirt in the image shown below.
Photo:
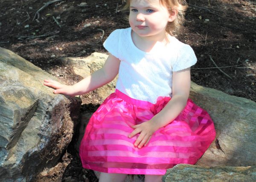
<path fill-rule="evenodd" d="M 196 62 L 197 58 L 193 49 L 189 45 L 183 44 L 180 47 L 177 60 L 172 67 L 172 71 L 180 71 L 189 68 L 192 65 L 195 65 Z"/>

